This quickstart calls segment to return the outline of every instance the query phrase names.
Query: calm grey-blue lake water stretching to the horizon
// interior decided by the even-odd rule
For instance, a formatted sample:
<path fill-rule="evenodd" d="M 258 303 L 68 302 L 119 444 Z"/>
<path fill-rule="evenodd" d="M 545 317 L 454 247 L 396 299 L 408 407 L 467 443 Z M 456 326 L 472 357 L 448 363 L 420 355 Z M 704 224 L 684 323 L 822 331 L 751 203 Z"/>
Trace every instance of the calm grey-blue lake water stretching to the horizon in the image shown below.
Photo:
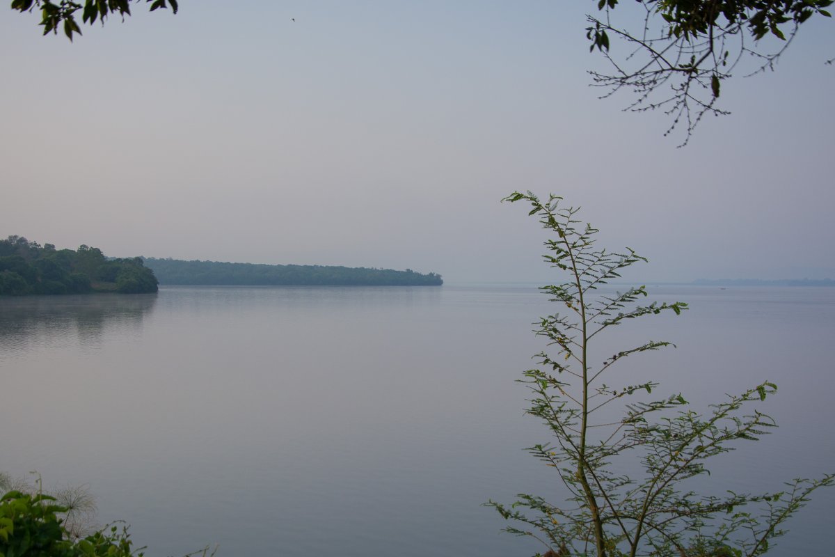
<path fill-rule="evenodd" d="M 615 328 L 625 360 L 704 409 L 779 385 L 780 428 L 722 455 L 711 492 L 835 471 L 835 288 L 651 286 L 682 316 Z M 0 470 L 88 485 L 151 557 L 531 555 L 488 499 L 561 500 L 524 447 L 549 440 L 514 383 L 557 311 L 535 286 L 162 287 L 156 295 L 0 299 Z M 835 489 L 770 555 L 827 554 Z"/>

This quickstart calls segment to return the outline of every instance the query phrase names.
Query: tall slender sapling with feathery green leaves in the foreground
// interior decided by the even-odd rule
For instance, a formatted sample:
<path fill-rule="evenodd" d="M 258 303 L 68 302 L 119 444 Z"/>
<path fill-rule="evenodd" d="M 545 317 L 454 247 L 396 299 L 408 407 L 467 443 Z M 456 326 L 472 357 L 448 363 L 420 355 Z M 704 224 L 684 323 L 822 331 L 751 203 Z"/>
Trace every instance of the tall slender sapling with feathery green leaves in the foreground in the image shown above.
<path fill-rule="evenodd" d="M 548 339 L 552 349 L 537 354 L 540 367 L 524 372 L 519 380 L 533 393 L 527 413 L 540 418 L 554 439 L 528 451 L 556 470 L 566 501 L 556 505 L 519 494 L 514 504 L 490 501 L 488 506 L 513 521 L 507 531 L 539 539 L 548 557 L 764 554 L 784 533 L 782 524 L 815 489 L 835 484 L 835 474 L 795 479 L 777 493 L 762 495 L 698 495 L 681 483 L 706 473 L 707 458 L 776 427 L 766 414 L 747 408 L 776 392 L 777 386 L 762 382 L 728 395 L 702 414 L 692 410 L 681 393 L 648 399 L 658 387 L 652 380 L 604 382 L 623 358 L 672 345 L 650 341 L 600 357 L 592 351 L 597 335 L 636 317 L 662 311 L 681 314 L 687 304 L 642 306 L 638 301 L 647 296 L 645 286 L 600 293 L 600 286 L 645 258 L 630 249 L 619 254 L 596 248 L 597 230 L 577 220 L 578 209 L 562 207 L 557 196 L 543 202 L 530 192 L 515 192 L 505 200 L 530 203 L 529 215 L 537 215 L 554 233 L 554 239 L 545 242 L 545 261 L 567 275 L 559 286 L 541 288 L 565 311 L 539 322 L 536 334 Z M 616 401 L 625 403 L 620 418 L 611 417 L 609 405 Z M 640 462 L 640 479 L 615 469 L 615 462 L 629 457 Z M 753 506 L 758 510 L 749 511 Z"/>

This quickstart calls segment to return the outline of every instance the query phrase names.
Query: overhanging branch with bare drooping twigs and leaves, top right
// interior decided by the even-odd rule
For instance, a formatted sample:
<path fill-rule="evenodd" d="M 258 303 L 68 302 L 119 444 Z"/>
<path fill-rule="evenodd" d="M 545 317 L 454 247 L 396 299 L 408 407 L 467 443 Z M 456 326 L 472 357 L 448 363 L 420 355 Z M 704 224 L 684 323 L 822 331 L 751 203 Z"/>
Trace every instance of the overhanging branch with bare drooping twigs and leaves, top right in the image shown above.
<path fill-rule="evenodd" d="M 665 135 L 681 125 L 684 145 L 706 114 L 729 114 L 716 105 L 721 84 L 743 59 L 755 62 L 749 74 L 774 69 L 802 23 L 831 17 L 832 1 L 637 0 L 639 26 L 615 22 L 618 0 L 599 0 L 586 37 L 610 71 L 590 72 L 593 84 L 606 89 L 603 98 L 631 91 L 627 110 L 664 110 L 672 117 Z M 768 36 L 777 39 L 773 48 Z"/>

